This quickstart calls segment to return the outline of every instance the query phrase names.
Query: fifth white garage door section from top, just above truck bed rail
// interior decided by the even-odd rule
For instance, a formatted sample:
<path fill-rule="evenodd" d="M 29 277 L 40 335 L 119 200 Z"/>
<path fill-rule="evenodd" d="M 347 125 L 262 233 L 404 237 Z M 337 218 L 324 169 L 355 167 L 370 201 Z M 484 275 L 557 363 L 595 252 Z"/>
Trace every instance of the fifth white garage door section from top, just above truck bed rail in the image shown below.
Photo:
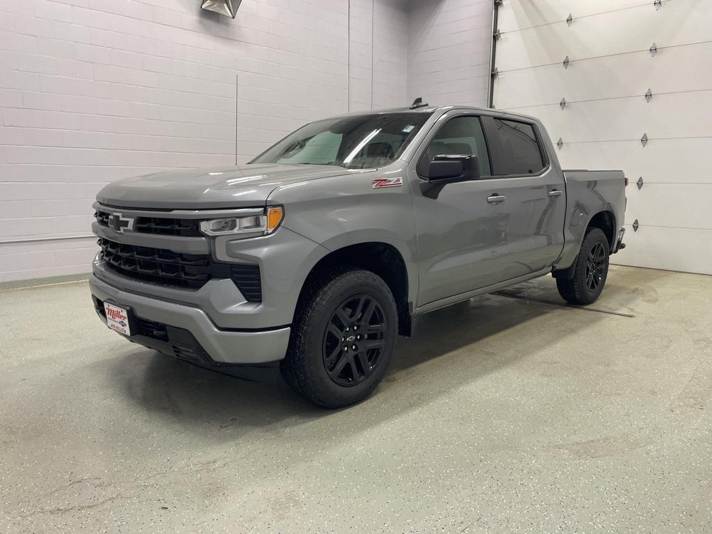
<path fill-rule="evenodd" d="M 651 183 L 710 182 L 709 162 L 703 157 L 707 154 L 712 154 L 712 138 L 709 137 L 653 140 L 646 147 L 639 142 L 569 143 L 557 150 L 565 169 L 623 169 L 631 182 L 629 196 L 634 194 L 632 189 L 637 190 L 634 182 L 638 177 L 643 177 L 644 188 Z M 712 206 L 712 199 L 708 202 Z M 710 212 L 712 208 L 706 211 Z"/>

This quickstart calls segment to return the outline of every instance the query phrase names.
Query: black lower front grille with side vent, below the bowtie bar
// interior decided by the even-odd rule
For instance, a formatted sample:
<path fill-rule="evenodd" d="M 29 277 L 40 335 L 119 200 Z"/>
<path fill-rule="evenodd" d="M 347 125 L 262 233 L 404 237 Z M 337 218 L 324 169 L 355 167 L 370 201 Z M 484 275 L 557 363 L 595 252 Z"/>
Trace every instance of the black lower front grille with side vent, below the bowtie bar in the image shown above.
<path fill-rule="evenodd" d="M 201 288 L 212 278 L 231 278 L 248 302 L 262 301 L 257 265 L 219 263 L 209 254 L 185 254 L 104 238 L 97 242 L 107 268 L 128 278 L 160 286 L 194 289 Z"/>

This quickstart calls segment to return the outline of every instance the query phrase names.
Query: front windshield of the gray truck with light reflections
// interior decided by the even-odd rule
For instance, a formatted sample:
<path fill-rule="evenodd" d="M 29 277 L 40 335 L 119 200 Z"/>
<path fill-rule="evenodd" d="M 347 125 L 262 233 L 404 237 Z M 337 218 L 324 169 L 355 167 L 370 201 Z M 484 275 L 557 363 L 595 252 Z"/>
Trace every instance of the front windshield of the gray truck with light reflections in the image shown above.
<path fill-rule="evenodd" d="M 401 155 L 429 116 L 378 113 L 310 122 L 250 163 L 382 167 Z"/>

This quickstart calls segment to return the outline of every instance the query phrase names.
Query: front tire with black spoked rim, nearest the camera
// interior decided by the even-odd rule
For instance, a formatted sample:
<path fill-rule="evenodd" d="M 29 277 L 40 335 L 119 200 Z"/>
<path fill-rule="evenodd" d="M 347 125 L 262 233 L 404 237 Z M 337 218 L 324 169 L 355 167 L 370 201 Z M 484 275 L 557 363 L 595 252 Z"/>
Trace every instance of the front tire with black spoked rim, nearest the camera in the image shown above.
<path fill-rule="evenodd" d="M 397 330 L 396 303 L 382 278 L 356 268 L 333 271 L 311 281 L 300 300 L 282 376 L 320 406 L 360 402 L 383 379 Z"/>

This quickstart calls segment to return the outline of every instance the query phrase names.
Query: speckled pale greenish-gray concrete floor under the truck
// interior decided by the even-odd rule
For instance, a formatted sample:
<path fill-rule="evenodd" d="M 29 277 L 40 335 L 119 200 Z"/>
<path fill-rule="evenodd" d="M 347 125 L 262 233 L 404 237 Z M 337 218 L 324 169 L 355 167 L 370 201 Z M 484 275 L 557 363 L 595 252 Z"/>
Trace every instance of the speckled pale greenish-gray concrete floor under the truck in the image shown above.
<path fill-rule="evenodd" d="M 86 283 L 0 293 L 0 532 L 712 532 L 712 276 L 505 293 L 336 412 L 122 340 Z"/>

